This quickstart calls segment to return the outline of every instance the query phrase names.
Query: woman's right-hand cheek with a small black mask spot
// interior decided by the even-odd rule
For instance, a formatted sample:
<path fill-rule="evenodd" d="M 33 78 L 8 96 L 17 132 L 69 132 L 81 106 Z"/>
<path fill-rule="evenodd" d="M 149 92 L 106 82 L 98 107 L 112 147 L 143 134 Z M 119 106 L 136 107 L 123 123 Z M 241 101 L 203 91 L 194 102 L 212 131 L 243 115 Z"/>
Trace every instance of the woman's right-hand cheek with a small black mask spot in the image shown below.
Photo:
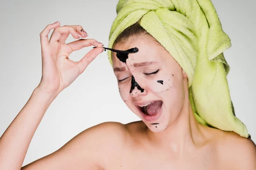
<path fill-rule="evenodd" d="M 174 78 L 172 75 L 160 75 L 154 77 L 154 79 L 148 80 L 148 82 L 148 88 L 156 94 L 169 91 L 174 86 Z"/>

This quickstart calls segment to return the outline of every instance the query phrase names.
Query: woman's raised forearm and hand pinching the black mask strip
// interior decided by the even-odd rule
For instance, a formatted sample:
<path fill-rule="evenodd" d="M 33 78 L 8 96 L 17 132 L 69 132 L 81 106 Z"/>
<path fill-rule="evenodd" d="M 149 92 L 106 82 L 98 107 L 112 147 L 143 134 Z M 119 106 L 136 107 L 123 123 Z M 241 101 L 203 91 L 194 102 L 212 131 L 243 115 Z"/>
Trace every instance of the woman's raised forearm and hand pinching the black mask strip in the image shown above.
<path fill-rule="evenodd" d="M 69 55 L 73 51 L 91 45 L 102 47 L 103 44 L 93 39 L 80 39 L 66 44 L 65 40 L 69 34 L 75 39 L 87 37 L 87 34 L 79 25 L 59 26 L 59 24 L 59 22 L 49 24 L 40 33 L 41 82 L 0 138 L 0 170 L 20 170 L 32 136 L 49 105 L 103 51 L 103 48 L 94 48 L 78 62 L 70 60 Z M 54 30 L 49 40 L 48 34 L 51 29 Z M 43 167 L 42 165 L 41 169 Z"/>

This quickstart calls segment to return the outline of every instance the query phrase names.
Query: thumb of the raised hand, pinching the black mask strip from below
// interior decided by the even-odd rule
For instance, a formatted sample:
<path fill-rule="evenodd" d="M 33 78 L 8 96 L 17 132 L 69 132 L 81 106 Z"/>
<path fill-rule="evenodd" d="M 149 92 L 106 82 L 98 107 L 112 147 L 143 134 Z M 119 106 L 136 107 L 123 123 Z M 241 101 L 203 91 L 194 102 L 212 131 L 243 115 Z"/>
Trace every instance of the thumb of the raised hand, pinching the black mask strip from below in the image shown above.
<path fill-rule="evenodd" d="M 95 59 L 103 51 L 104 48 L 93 48 L 91 51 L 85 54 L 85 56 L 80 61 L 75 62 L 79 68 L 79 75 L 82 74 L 90 62 L 92 62 L 93 59 Z"/>

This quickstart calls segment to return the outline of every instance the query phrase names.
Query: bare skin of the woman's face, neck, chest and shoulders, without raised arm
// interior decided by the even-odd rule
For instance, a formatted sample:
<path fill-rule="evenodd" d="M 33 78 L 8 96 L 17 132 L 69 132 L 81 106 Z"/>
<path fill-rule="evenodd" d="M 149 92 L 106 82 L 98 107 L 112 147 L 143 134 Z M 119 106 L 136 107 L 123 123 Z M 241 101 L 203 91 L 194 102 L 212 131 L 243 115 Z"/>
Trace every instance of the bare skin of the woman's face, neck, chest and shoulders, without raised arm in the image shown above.
<path fill-rule="evenodd" d="M 131 37 L 114 46 L 127 50 L 127 65 L 113 53 L 113 67 L 125 104 L 142 121 L 123 125 L 105 122 L 84 130 L 56 152 L 39 159 L 22 170 L 91 169 L 91 170 L 256 170 L 256 146 L 233 132 L 198 124 L 188 98 L 186 73 L 165 51 L 147 35 Z M 158 64 L 135 68 L 134 63 L 154 61 Z M 158 74 L 146 77 L 160 69 Z M 134 88 L 131 77 L 145 90 Z M 163 85 L 158 80 L 163 81 Z M 166 84 L 165 84 L 166 82 Z M 146 122 L 134 102 L 162 100 L 163 114 L 156 125 Z"/>

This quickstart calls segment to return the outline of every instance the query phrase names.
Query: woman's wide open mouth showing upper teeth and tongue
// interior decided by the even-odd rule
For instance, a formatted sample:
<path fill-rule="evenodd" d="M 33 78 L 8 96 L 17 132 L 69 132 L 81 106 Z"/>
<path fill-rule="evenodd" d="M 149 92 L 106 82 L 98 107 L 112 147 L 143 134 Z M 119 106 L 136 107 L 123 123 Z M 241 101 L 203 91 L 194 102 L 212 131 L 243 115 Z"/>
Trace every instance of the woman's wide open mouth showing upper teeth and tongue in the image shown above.
<path fill-rule="evenodd" d="M 163 101 L 157 100 L 146 105 L 136 105 L 136 107 L 145 115 L 154 116 L 160 111 L 162 105 Z"/>

